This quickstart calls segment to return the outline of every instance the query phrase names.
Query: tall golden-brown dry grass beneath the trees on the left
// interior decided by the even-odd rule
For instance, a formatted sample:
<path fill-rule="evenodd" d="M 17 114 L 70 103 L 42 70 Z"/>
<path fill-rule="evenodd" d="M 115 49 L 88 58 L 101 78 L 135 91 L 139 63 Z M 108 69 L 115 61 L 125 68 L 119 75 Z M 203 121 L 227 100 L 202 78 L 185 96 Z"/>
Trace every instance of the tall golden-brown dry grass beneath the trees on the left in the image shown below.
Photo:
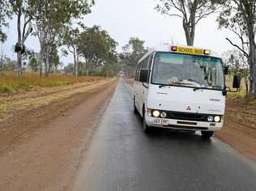
<path fill-rule="evenodd" d="M 74 78 L 69 74 L 50 74 L 48 78 L 40 79 L 39 74 L 24 73 L 16 78 L 13 72 L 0 74 L 0 93 L 19 90 L 28 90 L 32 87 L 58 87 L 73 83 L 84 83 L 98 80 L 99 78 L 79 77 Z"/>

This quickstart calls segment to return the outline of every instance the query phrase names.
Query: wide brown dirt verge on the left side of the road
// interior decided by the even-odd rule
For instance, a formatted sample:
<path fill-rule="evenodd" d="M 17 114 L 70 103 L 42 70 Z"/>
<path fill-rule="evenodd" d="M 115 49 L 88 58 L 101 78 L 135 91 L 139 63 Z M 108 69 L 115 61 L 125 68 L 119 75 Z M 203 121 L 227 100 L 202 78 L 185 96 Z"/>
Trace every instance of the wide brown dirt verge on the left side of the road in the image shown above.
<path fill-rule="evenodd" d="M 46 93 L 54 95 L 54 100 L 18 109 L 14 116 L 2 121 L 0 190 L 68 189 L 94 131 L 93 123 L 116 83 L 112 79 L 63 90 L 64 94 Z M 48 99 L 45 95 L 42 100 Z"/>

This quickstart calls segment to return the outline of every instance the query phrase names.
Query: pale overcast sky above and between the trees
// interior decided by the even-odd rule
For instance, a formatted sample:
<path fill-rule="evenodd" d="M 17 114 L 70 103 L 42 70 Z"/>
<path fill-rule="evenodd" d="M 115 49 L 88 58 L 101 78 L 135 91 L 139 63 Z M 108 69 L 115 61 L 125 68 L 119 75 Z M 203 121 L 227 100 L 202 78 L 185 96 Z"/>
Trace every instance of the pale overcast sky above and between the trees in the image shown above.
<path fill-rule="evenodd" d="M 157 0 L 96 0 L 92 13 L 84 17 L 83 23 L 87 27 L 100 25 L 108 31 L 119 44 L 118 52 L 122 51 L 122 46 L 126 45 L 132 36 L 145 40 L 145 45 L 149 48 L 172 41 L 178 45 L 186 45 L 181 19 L 161 15 L 154 9 L 156 2 Z M 233 49 L 225 40 L 226 37 L 233 39 L 233 33 L 225 29 L 219 30 L 215 19 L 216 15 L 211 15 L 198 23 L 194 46 L 211 49 L 217 53 Z M 6 29 L 8 38 L 5 44 L 1 45 L 3 52 L 12 59 L 16 57 L 13 52 L 17 40 L 16 30 L 14 19 Z M 28 37 L 25 45 L 36 52 L 40 50 L 36 37 Z M 60 59 L 64 64 L 73 62 L 71 55 Z"/>

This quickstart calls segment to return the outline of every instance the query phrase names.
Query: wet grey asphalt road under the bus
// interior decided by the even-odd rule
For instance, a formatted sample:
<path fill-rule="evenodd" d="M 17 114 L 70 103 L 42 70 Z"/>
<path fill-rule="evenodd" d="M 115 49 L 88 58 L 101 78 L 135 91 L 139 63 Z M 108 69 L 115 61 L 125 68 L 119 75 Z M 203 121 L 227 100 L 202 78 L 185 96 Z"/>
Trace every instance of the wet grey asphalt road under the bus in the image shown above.
<path fill-rule="evenodd" d="M 143 134 L 121 80 L 87 146 L 74 190 L 256 190 L 256 168 L 216 138 Z"/>

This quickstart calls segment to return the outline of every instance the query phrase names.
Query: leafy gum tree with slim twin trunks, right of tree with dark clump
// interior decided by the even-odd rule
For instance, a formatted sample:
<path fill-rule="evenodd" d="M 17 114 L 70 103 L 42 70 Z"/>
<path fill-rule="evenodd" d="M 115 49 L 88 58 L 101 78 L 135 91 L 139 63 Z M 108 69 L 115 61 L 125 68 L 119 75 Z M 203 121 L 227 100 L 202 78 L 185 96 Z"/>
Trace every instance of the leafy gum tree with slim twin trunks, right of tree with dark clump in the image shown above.
<path fill-rule="evenodd" d="M 49 72 L 46 68 L 49 68 L 50 65 L 48 57 L 51 51 L 50 46 L 62 45 L 61 39 L 64 36 L 66 25 L 70 25 L 75 19 L 82 19 L 83 15 L 90 13 L 93 4 L 93 0 L 42 0 L 34 4 L 36 36 L 41 45 L 41 74 L 42 62 L 45 62 L 45 75 Z"/>

